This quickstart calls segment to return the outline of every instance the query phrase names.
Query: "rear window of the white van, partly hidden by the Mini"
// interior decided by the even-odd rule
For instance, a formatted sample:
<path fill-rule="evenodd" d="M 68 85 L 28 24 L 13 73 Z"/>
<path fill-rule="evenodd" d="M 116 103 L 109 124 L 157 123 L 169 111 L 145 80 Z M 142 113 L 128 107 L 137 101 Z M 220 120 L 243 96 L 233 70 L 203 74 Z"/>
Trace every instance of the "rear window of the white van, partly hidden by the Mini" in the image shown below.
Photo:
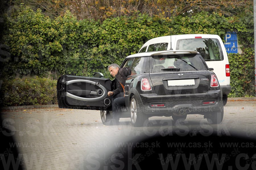
<path fill-rule="evenodd" d="M 177 40 L 176 50 L 192 50 L 201 53 L 205 61 L 223 60 L 218 39 L 197 38 Z"/>

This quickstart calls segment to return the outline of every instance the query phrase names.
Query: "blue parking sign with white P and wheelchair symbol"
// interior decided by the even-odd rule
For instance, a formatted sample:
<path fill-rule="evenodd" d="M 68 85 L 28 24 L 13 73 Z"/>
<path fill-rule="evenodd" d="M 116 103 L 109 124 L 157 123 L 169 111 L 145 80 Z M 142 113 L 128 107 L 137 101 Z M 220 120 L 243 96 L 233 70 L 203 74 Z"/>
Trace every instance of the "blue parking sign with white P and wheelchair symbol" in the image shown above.
<path fill-rule="evenodd" d="M 238 43 L 236 32 L 226 32 L 224 46 L 228 54 L 238 53 Z"/>

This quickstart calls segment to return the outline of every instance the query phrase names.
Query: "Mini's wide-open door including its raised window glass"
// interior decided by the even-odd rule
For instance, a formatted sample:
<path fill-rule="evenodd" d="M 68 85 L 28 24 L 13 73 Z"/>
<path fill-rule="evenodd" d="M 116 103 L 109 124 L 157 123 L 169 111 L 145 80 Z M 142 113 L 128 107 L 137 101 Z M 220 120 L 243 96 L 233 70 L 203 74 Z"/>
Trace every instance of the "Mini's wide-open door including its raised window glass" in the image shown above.
<path fill-rule="evenodd" d="M 59 108 L 112 110 L 111 80 L 100 60 L 68 58 L 57 81 Z"/>

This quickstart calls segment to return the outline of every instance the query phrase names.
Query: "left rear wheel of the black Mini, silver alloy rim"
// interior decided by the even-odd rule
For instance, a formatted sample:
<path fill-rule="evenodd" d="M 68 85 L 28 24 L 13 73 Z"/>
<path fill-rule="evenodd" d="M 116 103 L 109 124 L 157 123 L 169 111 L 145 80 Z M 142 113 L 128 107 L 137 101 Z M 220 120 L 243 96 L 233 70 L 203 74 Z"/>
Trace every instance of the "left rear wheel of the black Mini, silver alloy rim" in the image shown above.
<path fill-rule="evenodd" d="M 136 96 L 133 96 L 131 98 L 130 112 L 131 112 L 131 123 L 135 127 L 143 126 L 146 119 L 148 119 L 148 117 L 146 117 L 146 115 L 143 112 L 141 112 L 140 105 Z"/>

